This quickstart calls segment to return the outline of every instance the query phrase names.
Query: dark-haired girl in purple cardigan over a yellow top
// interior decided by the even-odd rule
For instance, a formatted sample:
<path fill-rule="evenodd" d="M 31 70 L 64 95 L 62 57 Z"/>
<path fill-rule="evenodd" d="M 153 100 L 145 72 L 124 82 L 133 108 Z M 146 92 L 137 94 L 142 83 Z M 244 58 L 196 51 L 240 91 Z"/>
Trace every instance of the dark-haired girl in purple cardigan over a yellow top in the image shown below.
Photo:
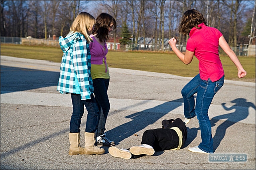
<path fill-rule="evenodd" d="M 106 137 L 105 125 L 110 103 L 108 100 L 108 85 L 110 75 L 108 72 L 108 64 L 106 62 L 106 54 L 108 47 L 106 41 L 111 31 L 116 29 L 116 20 L 107 13 L 101 13 L 96 18 L 96 23 L 93 29 L 93 34 L 90 37 L 93 41 L 90 43 L 91 50 L 91 75 L 93 79 L 94 95 L 100 111 L 98 116 L 98 128 L 96 140 L 98 145 L 113 146 L 114 141 L 110 141 Z"/>

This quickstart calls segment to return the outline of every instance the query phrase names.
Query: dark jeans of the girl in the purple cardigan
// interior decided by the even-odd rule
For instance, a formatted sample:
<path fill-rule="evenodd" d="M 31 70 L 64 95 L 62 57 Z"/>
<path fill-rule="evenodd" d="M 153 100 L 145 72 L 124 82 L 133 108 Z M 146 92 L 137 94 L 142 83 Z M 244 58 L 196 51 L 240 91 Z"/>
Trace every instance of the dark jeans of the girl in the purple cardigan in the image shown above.
<path fill-rule="evenodd" d="M 98 104 L 98 110 L 100 110 L 100 116 L 98 116 L 98 126 L 96 137 L 103 135 L 106 130 L 106 119 L 110 110 L 110 103 L 108 100 L 108 85 L 110 79 L 96 78 L 93 79 L 93 93 L 95 95 L 96 102 Z M 102 110 L 102 111 L 101 111 Z"/>

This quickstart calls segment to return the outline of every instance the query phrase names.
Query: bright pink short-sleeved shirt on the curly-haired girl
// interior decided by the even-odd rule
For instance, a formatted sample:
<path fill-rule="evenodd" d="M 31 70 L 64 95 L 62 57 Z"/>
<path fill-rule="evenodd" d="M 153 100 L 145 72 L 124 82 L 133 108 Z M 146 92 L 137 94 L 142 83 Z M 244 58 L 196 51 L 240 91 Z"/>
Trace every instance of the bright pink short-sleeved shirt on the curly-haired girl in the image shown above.
<path fill-rule="evenodd" d="M 202 80 L 217 81 L 224 75 L 221 59 L 219 58 L 219 38 L 222 33 L 204 23 L 198 25 L 201 29 L 192 28 L 187 40 L 186 50 L 195 52 L 199 60 L 199 74 Z"/>

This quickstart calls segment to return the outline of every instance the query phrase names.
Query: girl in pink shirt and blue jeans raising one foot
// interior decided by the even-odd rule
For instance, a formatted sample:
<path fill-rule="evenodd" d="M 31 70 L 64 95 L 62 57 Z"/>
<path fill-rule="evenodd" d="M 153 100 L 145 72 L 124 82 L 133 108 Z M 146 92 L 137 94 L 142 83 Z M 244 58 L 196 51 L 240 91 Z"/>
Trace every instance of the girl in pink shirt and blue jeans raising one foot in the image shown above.
<path fill-rule="evenodd" d="M 185 124 L 197 116 L 201 129 L 201 143 L 189 147 L 196 153 L 213 153 L 213 137 L 208 110 L 215 94 L 224 85 L 224 70 L 219 58 L 219 46 L 229 56 L 238 70 L 238 77 L 246 75 L 242 64 L 234 51 L 228 46 L 222 33 L 213 27 L 208 27 L 203 15 L 197 10 L 187 10 L 181 19 L 179 33 L 189 35 L 185 54 L 176 47 L 176 39 L 171 38 L 169 44 L 177 57 L 184 63 L 191 63 L 193 56 L 199 60 L 199 74 L 196 75 L 181 90 L 184 100 Z M 194 95 L 197 93 L 196 102 Z"/>

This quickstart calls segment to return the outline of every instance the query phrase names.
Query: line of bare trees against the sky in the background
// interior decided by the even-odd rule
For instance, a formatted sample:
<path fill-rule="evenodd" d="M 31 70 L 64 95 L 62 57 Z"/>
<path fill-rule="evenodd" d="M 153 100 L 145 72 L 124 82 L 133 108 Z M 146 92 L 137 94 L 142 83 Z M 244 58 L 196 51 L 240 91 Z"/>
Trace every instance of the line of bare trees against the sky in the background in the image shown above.
<path fill-rule="evenodd" d="M 178 27 L 189 9 L 199 10 L 230 46 L 255 43 L 254 0 L 1 0 L 1 37 L 65 36 L 79 12 L 95 18 L 107 12 L 118 26 L 110 35 L 114 44 L 121 37 L 122 44 L 137 46 L 143 37 L 145 46 L 145 38 L 151 37 L 163 49 L 166 38 L 176 37 L 185 44 L 188 37 L 180 35 Z"/>

